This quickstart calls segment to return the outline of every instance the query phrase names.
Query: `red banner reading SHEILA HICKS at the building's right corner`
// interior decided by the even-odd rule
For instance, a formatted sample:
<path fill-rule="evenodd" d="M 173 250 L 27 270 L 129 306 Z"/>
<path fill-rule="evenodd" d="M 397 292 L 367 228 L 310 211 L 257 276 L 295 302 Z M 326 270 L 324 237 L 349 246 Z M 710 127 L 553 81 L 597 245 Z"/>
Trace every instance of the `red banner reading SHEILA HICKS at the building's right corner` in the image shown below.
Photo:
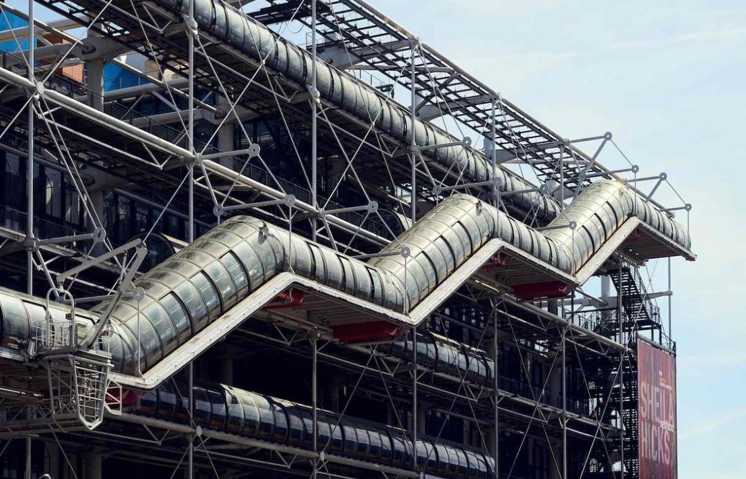
<path fill-rule="evenodd" d="M 639 479 L 677 479 L 676 357 L 637 342 Z"/>

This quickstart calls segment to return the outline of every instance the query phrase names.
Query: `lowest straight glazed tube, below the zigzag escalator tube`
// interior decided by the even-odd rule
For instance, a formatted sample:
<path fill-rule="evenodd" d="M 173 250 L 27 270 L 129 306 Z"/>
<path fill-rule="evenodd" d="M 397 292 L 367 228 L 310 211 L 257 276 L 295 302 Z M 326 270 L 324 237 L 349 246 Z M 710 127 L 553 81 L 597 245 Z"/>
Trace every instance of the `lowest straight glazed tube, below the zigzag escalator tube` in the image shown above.
<path fill-rule="evenodd" d="M 132 412 L 174 422 L 187 422 L 188 388 L 171 381 L 129 406 Z M 210 430 L 313 450 L 312 409 L 283 399 L 222 384 L 194 387 L 194 421 Z M 318 445 L 327 456 L 361 460 L 394 469 L 413 466 L 412 442 L 401 429 L 319 411 Z M 327 447 L 328 444 L 328 447 Z M 480 451 L 418 440 L 419 469 L 442 478 L 494 478 L 494 463 Z"/>

